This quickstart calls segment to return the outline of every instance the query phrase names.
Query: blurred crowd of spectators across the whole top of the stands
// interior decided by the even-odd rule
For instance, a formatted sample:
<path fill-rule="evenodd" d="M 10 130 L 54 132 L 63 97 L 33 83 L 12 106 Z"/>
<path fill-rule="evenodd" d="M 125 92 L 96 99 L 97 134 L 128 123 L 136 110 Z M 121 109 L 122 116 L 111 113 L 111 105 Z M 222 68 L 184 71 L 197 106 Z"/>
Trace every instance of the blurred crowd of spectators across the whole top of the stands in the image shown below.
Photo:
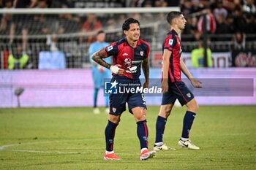
<path fill-rule="evenodd" d="M 208 34 L 233 34 L 238 48 L 243 47 L 246 34 L 255 34 L 256 16 L 254 0 L 0 0 L 1 8 L 74 8 L 74 7 L 181 7 L 187 18 L 184 41 L 197 41 L 203 32 L 203 14 L 206 14 Z M 23 39 L 23 49 L 28 43 L 28 35 L 67 34 L 82 32 L 96 33 L 100 29 L 115 29 L 127 17 L 141 19 L 142 23 L 157 20 L 151 14 L 118 15 L 10 15 L 1 14 L 0 35 L 9 35 L 11 44 L 15 36 Z M 165 18 L 163 15 L 158 17 Z M 24 21 L 26 23 L 24 23 Z M 219 38 L 218 38 L 219 37 Z M 217 40 L 230 40 L 225 36 L 217 36 Z M 252 37 L 255 40 L 255 37 Z M 84 41 L 84 39 L 80 39 Z M 94 34 L 86 39 L 93 42 Z"/>

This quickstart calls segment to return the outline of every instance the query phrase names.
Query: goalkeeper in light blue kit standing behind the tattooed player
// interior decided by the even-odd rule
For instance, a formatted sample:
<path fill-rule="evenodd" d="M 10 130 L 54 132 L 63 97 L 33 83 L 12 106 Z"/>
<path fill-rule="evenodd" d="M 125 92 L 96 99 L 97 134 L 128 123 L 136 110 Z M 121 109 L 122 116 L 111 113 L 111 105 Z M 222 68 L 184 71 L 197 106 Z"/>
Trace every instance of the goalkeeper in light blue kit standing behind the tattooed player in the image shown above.
<path fill-rule="evenodd" d="M 102 49 L 103 47 L 107 47 L 109 44 L 105 42 L 105 32 L 98 31 L 97 32 L 97 41 L 92 43 L 89 47 L 89 56 L 90 61 L 92 63 L 92 78 L 94 80 L 94 114 L 99 114 L 99 108 L 97 107 L 97 97 L 99 89 L 102 88 L 103 80 L 110 79 L 111 72 L 109 69 L 105 69 L 103 66 L 100 66 L 98 63 L 95 63 L 92 60 L 92 55 L 97 51 Z M 111 58 L 105 58 L 106 62 L 111 63 Z M 108 96 L 105 96 L 105 112 L 108 112 L 109 100 Z"/>

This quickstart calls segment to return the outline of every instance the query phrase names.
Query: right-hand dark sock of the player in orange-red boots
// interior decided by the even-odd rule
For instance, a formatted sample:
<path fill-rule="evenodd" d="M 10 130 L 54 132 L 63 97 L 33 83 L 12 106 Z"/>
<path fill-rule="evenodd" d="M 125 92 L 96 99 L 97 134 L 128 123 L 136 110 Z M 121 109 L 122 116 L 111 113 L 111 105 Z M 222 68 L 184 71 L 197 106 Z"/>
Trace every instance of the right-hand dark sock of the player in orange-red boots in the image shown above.
<path fill-rule="evenodd" d="M 137 123 L 137 135 L 140 139 L 140 149 L 148 148 L 148 126 L 146 120 Z"/>

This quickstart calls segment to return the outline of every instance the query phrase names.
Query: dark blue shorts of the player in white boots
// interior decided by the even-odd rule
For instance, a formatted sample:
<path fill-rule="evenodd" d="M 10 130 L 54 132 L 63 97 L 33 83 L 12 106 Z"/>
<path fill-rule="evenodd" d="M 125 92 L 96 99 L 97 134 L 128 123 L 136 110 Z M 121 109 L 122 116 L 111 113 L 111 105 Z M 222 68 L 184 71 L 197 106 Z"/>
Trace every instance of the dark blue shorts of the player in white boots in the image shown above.
<path fill-rule="evenodd" d="M 194 98 L 193 93 L 187 88 L 184 82 L 169 82 L 168 84 L 168 92 L 162 95 L 162 105 L 174 104 L 176 99 L 178 99 L 181 106 L 183 106 Z"/>

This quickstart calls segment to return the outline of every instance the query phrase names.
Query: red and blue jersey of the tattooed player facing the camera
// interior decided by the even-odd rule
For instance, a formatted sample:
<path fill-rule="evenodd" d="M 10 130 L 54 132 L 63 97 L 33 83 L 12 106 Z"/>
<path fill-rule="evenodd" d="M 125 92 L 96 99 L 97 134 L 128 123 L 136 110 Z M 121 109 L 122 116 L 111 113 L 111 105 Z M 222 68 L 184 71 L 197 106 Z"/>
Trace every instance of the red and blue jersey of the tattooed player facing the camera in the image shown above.
<path fill-rule="evenodd" d="M 148 43 L 142 39 L 138 39 L 136 47 L 130 46 L 126 38 L 105 47 L 107 55 L 113 56 L 113 65 L 120 64 L 121 69 L 127 70 L 123 76 L 132 80 L 139 79 L 141 63 L 148 58 L 149 50 Z"/>

